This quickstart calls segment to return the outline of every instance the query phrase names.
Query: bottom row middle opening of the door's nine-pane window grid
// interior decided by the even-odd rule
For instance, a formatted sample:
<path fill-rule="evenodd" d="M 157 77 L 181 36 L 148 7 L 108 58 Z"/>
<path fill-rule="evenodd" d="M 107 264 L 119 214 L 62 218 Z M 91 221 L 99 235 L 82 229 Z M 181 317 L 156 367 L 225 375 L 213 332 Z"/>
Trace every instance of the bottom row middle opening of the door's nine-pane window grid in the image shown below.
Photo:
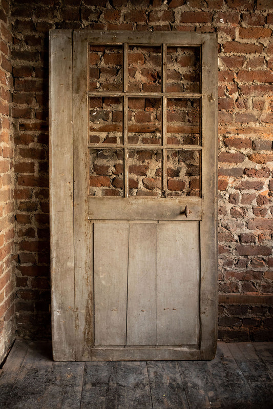
<path fill-rule="evenodd" d="M 162 152 L 130 150 L 128 158 L 129 196 L 162 195 Z"/>

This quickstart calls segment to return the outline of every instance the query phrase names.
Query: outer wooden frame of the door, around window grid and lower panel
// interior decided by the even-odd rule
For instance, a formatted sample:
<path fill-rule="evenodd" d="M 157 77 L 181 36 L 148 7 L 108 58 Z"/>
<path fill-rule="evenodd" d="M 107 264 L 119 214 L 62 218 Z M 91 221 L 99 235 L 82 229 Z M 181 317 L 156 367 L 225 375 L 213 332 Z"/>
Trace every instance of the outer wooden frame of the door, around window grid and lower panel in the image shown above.
<path fill-rule="evenodd" d="M 201 46 L 200 345 L 153 350 L 93 346 L 93 243 L 88 220 L 89 43 Z M 133 38 L 132 38 L 133 37 Z M 77 50 L 77 53 L 75 52 Z M 80 51 L 80 52 L 79 52 Z M 64 74 L 65 73 L 65 77 Z M 51 30 L 49 64 L 51 311 L 54 360 L 212 359 L 217 345 L 217 35 Z M 72 126 L 73 124 L 73 126 Z M 205 166 L 212 163 L 213 166 Z M 75 171 L 76 170 L 76 171 Z M 84 175 L 82 177 L 82 175 Z M 82 198 L 85 198 L 82 200 Z M 147 351 L 148 350 L 148 351 Z M 159 351 L 161 350 L 161 351 Z"/>

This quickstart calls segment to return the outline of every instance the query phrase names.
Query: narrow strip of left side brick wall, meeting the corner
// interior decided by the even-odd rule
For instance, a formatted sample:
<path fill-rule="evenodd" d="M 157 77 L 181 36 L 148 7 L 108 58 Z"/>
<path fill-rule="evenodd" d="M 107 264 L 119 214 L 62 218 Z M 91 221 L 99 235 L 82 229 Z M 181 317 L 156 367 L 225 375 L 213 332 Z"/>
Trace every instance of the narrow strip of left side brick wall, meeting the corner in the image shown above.
<path fill-rule="evenodd" d="M 0 362 L 14 340 L 14 181 L 9 4 L 0 1 Z"/>

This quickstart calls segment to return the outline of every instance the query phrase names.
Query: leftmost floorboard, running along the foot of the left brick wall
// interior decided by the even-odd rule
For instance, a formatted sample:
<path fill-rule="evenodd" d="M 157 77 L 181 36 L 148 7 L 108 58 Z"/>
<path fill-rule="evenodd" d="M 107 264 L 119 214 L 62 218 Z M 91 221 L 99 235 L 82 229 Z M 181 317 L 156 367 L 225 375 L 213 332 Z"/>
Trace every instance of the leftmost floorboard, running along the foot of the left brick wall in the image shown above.
<path fill-rule="evenodd" d="M 11 394 L 20 367 L 28 352 L 29 343 L 23 340 L 15 341 L 12 350 L 2 368 L 0 375 L 0 407 L 5 407 Z"/>

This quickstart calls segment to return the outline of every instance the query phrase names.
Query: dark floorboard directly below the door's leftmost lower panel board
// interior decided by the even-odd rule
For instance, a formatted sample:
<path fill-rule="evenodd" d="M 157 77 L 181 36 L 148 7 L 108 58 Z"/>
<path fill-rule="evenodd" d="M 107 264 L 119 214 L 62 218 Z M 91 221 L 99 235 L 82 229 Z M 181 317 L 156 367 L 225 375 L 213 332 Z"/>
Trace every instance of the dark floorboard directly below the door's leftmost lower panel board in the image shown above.
<path fill-rule="evenodd" d="M 116 362 L 86 362 L 80 409 L 116 409 Z"/>

